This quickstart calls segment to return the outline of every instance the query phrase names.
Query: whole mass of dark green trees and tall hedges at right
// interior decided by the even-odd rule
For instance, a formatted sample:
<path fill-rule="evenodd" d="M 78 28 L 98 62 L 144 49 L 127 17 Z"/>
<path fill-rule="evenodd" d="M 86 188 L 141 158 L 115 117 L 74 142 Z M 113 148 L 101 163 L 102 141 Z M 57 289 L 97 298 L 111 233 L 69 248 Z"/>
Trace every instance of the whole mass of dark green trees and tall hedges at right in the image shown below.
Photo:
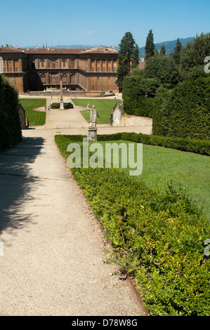
<path fill-rule="evenodd" d="M 185 48 L 177 39 L 174 51 L 166 56 L 162 48 L 162 55 L 147 58 L 144 70 L 124 79 L 124 111 L 152 117 L 155 135 L 209 139 L 209 74 L 204 59 L 210 54 L 210 34 L 197 36 Z"/>

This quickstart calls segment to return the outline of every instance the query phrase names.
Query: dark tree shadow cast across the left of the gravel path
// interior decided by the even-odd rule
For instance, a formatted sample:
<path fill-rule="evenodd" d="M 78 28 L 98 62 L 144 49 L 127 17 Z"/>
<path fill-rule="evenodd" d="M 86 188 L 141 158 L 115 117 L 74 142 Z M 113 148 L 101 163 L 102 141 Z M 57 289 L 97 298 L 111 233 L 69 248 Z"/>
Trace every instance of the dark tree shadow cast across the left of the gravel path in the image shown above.
<path fill-rule="evenodd" d="M 39 184 L 39 179 L 30 175 L 30 166 L 43 144 L 43 138 L 23 138 L 22 143 L 0 153 L 0 235 L 30 221 L 30 210 L 23 213 L 22 204 L 30 202 L 31 192 Z"/>

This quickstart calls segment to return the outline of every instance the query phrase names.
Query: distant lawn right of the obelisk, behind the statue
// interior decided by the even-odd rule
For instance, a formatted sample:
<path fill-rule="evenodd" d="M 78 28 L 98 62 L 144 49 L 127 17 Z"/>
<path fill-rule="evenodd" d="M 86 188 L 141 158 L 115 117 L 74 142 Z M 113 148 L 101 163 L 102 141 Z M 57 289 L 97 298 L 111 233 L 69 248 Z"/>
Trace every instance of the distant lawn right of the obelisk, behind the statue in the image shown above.
<path fill-rule="evenodd" d="M 89 105 L 89 107 L 91 108 L 94 105 L 99 116 L 97 117 L 97 124 L 110 124 L 110 114 L 112 114 L 112 109 L 114 105 L 116 105 L 117 100 L 72 98 L 72 102 L 74 103 L 74 105 L 79 105 L 79 107 L 87 107 L 87 105 Z M 88 121 L 89 123 L 90 111 L 84 110 L 81 111 L 81 114 L 83 115 L 84 119 L 86 119 L 86 121 Z"/>

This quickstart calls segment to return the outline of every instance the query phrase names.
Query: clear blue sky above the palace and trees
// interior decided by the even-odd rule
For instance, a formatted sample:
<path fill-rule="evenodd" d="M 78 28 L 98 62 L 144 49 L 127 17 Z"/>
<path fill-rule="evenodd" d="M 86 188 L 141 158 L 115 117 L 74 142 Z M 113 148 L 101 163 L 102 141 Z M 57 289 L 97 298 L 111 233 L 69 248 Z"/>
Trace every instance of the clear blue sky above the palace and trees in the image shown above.
<path fill-rule="evenodd" d="M 0 5 L 0 46 L 118 46 L 131 32 L 139 47 L 210 32 L 209 0 L 6 0 Z"/>

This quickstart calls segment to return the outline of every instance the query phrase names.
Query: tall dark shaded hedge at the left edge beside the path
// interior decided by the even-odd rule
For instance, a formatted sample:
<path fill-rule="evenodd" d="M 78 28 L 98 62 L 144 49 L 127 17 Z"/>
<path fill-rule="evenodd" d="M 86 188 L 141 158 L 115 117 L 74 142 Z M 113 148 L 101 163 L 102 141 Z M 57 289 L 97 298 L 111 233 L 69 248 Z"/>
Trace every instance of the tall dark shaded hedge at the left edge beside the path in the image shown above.
<path fill-rule="evenodd" d="M 0 150 L 20 143 L 22 133 L 18 113 L 18 91 L 0 74 Z"/>

